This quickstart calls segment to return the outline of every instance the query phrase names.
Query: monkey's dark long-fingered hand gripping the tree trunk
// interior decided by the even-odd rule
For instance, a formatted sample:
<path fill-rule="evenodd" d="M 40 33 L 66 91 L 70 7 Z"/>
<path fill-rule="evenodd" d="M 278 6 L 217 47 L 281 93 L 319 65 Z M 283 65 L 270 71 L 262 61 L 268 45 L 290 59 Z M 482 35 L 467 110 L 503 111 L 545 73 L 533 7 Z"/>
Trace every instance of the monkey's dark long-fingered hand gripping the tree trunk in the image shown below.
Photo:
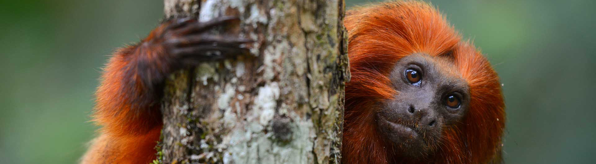
<path fill-rule="evenodd" d="M 251 42 L 251 40 L 228 33 L 207 33 L 213 27 L 225 26 L 237 21 L 237 17 L 231 16 L 218 17 L 207 22 L 198 22 L 196 18 L 178 18 L 167 21 L 162 25 L 162 29 L 156 29 L 160 30 L 156 31 L 157 36 L 154 39 L 145 40 L 144 43 L 148 43 L 149 46 L 160 46 L 163 53 L 157 57 L 160 58 L 160 61 L 154 61 L 153 65 L 147 66 L 164 70 L 147 72 L 148 76 L 143 79 L 149 85 L 147 87 L 162 83 L 164 75 L 179 68 L 194 66 L 204 61 L 233 58 L 247 53 L 248 49 L 241 45 Z"/>

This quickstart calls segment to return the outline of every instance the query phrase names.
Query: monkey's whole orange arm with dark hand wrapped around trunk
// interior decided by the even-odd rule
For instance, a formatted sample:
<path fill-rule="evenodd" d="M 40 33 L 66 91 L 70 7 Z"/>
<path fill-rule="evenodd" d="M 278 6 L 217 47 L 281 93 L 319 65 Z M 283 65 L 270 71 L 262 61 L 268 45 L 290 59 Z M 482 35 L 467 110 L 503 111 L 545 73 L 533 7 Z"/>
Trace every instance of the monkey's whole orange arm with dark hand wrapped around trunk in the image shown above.
<path fill-rule="evenodd" d="M 96 93 L 93 121 L 102 126 L 101 134 L 82 163 L 149 163 L 155 159 L 153 148 L 162 128 L 159 102 L 164 78 L 201 61 L 246 52 L 239 46 L 248 42 L 246 39 L 204 33 L 233 20 L 237 18 L 220 17 L 205 23 L 188 18 L 170 20 L 140 43 L 114 53 Z"/>

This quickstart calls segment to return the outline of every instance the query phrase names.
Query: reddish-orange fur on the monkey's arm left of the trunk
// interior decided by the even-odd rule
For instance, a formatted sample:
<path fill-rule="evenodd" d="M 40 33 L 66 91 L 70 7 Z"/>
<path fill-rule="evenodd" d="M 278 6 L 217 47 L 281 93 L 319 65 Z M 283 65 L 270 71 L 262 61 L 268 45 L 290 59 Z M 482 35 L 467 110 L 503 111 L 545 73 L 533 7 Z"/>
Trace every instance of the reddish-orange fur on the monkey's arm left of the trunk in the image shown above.
<path fill-rule="evenodd" d="M 103 72 L 97 90 L 94 113 L 96 124 L 101 125 L 100 137 L 83 156 L 81 163 L 150 163 L 156 159 L 154 147 L 162 129 L 162 117 L 155 93 L 150 90 L 153 81 L 169 72 L 166 56 L 157 36 L 167 24 L 157 27 L 138 45 L 119 49 Z M 148 65 L 149 67 L 141 67 Z"/>

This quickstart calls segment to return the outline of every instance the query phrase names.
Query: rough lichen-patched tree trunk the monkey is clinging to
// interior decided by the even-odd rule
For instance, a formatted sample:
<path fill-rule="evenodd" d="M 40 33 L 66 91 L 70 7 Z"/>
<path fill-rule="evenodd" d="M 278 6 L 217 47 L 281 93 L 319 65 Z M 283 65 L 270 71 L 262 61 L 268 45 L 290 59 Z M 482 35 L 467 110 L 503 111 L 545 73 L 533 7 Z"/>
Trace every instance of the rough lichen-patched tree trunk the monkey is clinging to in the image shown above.
<path fill-rule="evenodd" d="M 166 82 L 162 163 L 340 163 L 349 80 L 343 0 L 164 0 L 166 17 L 256 40 Z M 218 33 L 218 30 L 213 31 Z"/>

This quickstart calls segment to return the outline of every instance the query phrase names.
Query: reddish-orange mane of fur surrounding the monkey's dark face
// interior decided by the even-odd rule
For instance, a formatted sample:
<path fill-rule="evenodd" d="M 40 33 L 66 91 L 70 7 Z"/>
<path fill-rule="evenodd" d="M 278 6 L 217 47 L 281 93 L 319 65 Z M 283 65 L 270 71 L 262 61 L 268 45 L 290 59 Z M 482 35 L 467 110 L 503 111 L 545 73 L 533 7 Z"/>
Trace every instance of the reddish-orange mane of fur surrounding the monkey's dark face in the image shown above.
<path fill-rule="evenodd" d="M 496 72 L 471 43 L 461 40 L 437 10 L 424 2 L 383 2 L 348 11 L 352 79 L 346 84 L 344 163 L 499 162 L 505 112 Z M 452 51 L 454 72 L 470 86 L 470 108 L 461 124 L 445 128 L 436 152 L 401 159 L 377 132 L 376 102 L 399 94 L 387 77 L 403 56 Z"/>

